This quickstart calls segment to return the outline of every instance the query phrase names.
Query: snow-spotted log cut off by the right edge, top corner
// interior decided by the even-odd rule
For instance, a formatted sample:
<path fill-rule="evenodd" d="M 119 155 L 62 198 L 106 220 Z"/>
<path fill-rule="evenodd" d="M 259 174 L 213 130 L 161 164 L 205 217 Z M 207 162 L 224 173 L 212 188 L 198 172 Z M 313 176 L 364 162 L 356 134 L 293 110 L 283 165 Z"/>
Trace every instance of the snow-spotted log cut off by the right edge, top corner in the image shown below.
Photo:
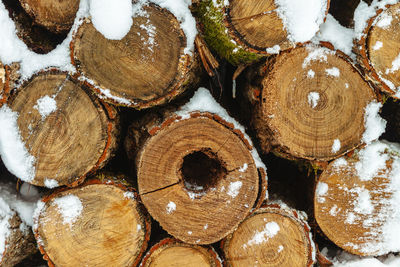
<path fill-rule="evenodd" d="M 400 98 L 400 4 L 379 9 L 357 40 L 357 60 L 383 92 Z"/>

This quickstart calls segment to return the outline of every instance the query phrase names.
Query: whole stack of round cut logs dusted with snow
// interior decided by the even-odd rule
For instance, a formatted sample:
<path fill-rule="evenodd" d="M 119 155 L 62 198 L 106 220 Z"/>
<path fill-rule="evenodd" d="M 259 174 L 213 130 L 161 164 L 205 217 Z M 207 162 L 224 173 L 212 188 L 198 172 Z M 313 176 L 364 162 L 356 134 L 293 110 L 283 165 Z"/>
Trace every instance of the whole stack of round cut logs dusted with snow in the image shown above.
<path fill-rule="evenodd" d="M 19 37 L 38 53 L 66 37 L 79 7 L 79 0 L 3 2 Z M 357 255 L 390 252 L 363 249 L 379 226 L 363 221 L 384 208 L 357 224 L 332 213 L 357 212 L 348 188 L 389 183 L 382 173 L 363 180 L 356 165 L 372 141 L 364 135 L 367 108 L 398 98 L 400 72 L 391 67 L 400 48 L 400 4 L 370 19 L 354 61 L 328 43 L 290 41 L 273 0 L 193 2 L 199 28 L 193 54 L 184 52 L 177 18 L 151 3 L 144 7 L 149 16 L 135 17 L 122 40 L 105 38 L 86 18 L 70 43 L 74 73 L 47 69 L 20 81 L 16 65 L 0 63 L 0 105 L 19 114 L 22 141 L 36 159 L 29 183 L 54 188 L 43 189 L 33 232 L 20 227 L 14 211 L 0 213 L 0 223 L 7 219 L 12 228 L 0 239 L 2 266 L 14 266 L 36 245 L 49 266 L 329 265 L 316 236 Z M 354 10 L 359 1 L 331 0 L 321 12 L 327 14 L 330 4 L 349 26 L 352 13 L 340 11 L 349 10 L 344 2 Z M 388 27 L 376 26 L 382 14 L 393 17 Z M 152 49 L 140 37 L 144 22 L 155 29 Z M 280 53 L 269 54 L 276 45 Z M 219 69 L 207 46 L 220 57 Z M 232 76 L 239 77 L 234 100 L 227 97 Z M 190 102 L 195 108 L 181 108 L 200 85 L 211 85 L 254 144 L 214 104 L 196 105 L 209 94 L 204 89 Z M 56 109 L 41 110 L 44 101 Z M 268 164 L 265 170 L 256 148 L 267 163 L 279 156 L 316 169 L 319 181 L 307 177 L 301 196 L 314 198 L 306 207 L 310 224 L 305 212 L 266 199 L 266 171 L 270 194 L 278 193 L 273 187 L 279 179 L 289 191 L 302 189 L 284 184 L 279 175 L 285 171 L 276 174 L 271 166 L 269 172 Z M 372 200 L 388 197 L 377 193 Z"/>

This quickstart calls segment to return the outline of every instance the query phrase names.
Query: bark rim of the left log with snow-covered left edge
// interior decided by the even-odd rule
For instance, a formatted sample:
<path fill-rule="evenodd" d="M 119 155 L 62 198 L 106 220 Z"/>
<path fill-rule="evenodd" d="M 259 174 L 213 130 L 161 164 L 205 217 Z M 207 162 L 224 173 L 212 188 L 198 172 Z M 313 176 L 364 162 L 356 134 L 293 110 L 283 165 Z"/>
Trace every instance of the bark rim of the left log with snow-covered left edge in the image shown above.
<path fill-rule="evenodd" d="M 18 88 L 16 88 L 13 92 L 11 92 L 11 96 L 8 99 L 8 103 L 12 102 L 18 92 L 22 90 L 25 86 L 27 86 L 34 78 L 40 75 L 46 75 L 46 74 L 63 74 L 66 75 L 66 79 L 70 80 L 71 82 L 75 83 L 78 85 L 86 94 L 87 96 L 91 99 L 93 105 L 100 110 L 104 111 L 106 120 L 107 120 L 107 141 L 106 145 L 104 147 L 104 150 L 97 160 L 96 164 L 85 174 L 82 176 L 78 177 L 75 179 L 75 181 L 66 184 L 67 187 L 76 187 L 83 183 L 86 177 L 94 174 L 98 169 L 101 169 L 107 162 L 111 159 L 112 155 L 115 154 L 117 148 L 118 148 L 118 136 L 119 136 L 119 116 L 116 111 L 116 109 L 111 106 L 106 104 L 104 101 L 101 99 L 96 98 L 86 87 L 86 85 L 78 80 L 75 79 L 74 76 L 71 76 L 68 72 L 61 71 L 57 68 L 48 68 L 45 70 L 41 70 L 39 72 L 34 73 L 29 79 L 25 80 L 23 83 L 21 83 Z M 0 102 L 1 104 L 1 102 Z"/>

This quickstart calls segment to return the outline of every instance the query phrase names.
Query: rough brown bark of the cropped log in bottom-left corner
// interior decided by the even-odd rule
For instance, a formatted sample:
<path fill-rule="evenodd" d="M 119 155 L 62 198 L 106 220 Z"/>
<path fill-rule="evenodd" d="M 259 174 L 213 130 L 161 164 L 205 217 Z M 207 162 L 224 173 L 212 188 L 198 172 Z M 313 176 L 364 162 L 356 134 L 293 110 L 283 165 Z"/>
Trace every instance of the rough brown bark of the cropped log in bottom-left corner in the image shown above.
<path fill-rule="evenodd" d="M 4 251 L 2 254 L 2 257 L 0 258 L 0 266 L 14 266 L 15 264 L 18 264 L 25 258 L 29 257 L 30 255 L 34 254 L 37 251 L 36 247 L 36 242 L 35 238 L 33 236 L 33 233 L 30 229 L 30 227 L 26 226 L 26 230 L 23 231 L 20 228 L 20 225 L 23 224 L 21 218 L 18 216 L 18 214 L 13 210 L 14 215 L 13 217 L 10 218 L 10 230 L 12 233 L 10 236 L 8 236 L 5 240 L 5 246 L 4 246 Z M 18 233 L 21 233 L 21 238 L 15 242 L 13 245 L 14 247 L 8 247 L 7 244 L 10 239 L 10 237 L 13 237 L 15 235 L 18 235 Z M 10 250 L 11 249 L 11 250 Z M 16 251 L 18 254 L 16 255 Z M 7 255 L 10 252 L 9 255 Z M 21 254 L 24 252 L 24 254 Z M 7 261 L 8 257 L 11 257 L 11 260 Z M 13 257 L 14 256 L 14 257 Z M 16 259 L 15 259 L 16 258 Z M 6 259 L 6 262 L 4 262 L 4 259 Z M 4 264 L 4 265 L 3 265 Z"/>

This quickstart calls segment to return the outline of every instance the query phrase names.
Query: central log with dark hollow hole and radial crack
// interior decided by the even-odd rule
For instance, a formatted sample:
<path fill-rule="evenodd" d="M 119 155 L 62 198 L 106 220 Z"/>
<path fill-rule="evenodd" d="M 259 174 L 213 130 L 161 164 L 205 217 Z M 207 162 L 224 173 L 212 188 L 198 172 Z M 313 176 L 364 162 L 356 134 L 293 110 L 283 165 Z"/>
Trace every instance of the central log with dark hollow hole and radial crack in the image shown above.
<path fill-rule="evenodd" d="M 164 115 L 148 115 L 125 141 L 128 155 L 137 155 L 143 203 L 175 238 L 217 242 L 249 214 L 262 188 L 252 147 L 218 115 Z"/>

